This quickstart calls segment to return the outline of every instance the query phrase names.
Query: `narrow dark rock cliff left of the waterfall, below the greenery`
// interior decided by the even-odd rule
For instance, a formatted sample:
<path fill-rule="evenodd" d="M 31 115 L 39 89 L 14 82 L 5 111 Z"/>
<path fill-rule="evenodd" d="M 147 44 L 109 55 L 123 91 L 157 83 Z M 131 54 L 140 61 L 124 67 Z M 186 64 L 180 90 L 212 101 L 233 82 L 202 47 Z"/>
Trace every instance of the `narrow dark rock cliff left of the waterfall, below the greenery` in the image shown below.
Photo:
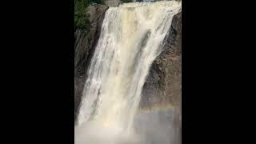
<path fill-rule="evenodd" d="M 94 54 L 94 47 L 98 42 L 102 21 L 108 6 L 91 5 L 87 8 L 90 14 L 90 31 L 84 33 L 75 30 L 74 33 L 74 121 L 78 115 L 78 107 L 82 98 L 83 86 L 86 82 L 86 70 L 90 64 L 90 58 Z"/>

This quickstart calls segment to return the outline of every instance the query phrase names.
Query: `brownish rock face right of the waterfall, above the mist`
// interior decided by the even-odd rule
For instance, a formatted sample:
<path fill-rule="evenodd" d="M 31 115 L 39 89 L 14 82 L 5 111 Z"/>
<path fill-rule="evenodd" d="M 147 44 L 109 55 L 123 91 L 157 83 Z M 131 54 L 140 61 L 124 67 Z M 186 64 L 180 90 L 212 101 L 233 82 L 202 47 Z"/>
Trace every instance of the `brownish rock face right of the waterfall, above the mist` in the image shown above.
<path fill-rule="evenodd" d="M 182 93 L 182 13 L 174 15 L 162 53 L 154 60 L 142 90 L 140 107 L 180 106 Z"/>

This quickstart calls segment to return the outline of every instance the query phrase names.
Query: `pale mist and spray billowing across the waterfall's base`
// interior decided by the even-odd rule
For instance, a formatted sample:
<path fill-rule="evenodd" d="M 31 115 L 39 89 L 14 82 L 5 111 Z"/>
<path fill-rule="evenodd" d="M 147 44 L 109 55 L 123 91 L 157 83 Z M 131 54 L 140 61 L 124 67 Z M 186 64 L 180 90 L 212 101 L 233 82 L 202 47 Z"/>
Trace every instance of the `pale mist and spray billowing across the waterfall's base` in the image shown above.
<path fill-rule="evenodd" d="M 118 127 L 102 129 L 97 124 L 84 123 L 76 131 L 76 144 L 180 144 L 180 130 L 175 123 L 176 109 L 149 110 L 134 117 L 134 134 L 118 134 Z M 113 141 L 114 139 L 114 141 Z"/>

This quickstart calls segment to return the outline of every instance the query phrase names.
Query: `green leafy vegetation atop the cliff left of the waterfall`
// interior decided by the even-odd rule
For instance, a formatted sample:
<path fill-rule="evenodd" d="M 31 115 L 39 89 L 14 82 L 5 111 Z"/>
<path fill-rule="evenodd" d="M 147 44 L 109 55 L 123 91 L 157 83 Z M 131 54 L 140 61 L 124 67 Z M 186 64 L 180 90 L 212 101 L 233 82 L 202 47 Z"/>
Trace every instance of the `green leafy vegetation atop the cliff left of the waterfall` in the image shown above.
<path fill-rule="evenodd" d="M 75 28 L 88 31 L 90 29 L 89 15 L 86 7 L 91 3 L 102 3 L 102 0 L 74 0 L 74 26 Z"/>

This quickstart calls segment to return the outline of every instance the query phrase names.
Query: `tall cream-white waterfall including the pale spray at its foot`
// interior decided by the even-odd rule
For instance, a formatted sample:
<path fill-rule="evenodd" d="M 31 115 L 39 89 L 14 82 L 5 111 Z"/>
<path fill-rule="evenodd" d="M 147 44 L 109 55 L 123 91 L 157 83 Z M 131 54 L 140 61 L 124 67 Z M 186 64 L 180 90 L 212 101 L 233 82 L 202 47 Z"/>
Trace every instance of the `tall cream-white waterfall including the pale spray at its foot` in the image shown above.
<path fill-rule="evenodd" d="M 87 72 L 75 144 L 170 144 L 172 109 L 138 114 L 142 86 L 181 2 L 132 2 L 106 10 Z M 168 119 L 163 121 L 163 119 Z"/>

